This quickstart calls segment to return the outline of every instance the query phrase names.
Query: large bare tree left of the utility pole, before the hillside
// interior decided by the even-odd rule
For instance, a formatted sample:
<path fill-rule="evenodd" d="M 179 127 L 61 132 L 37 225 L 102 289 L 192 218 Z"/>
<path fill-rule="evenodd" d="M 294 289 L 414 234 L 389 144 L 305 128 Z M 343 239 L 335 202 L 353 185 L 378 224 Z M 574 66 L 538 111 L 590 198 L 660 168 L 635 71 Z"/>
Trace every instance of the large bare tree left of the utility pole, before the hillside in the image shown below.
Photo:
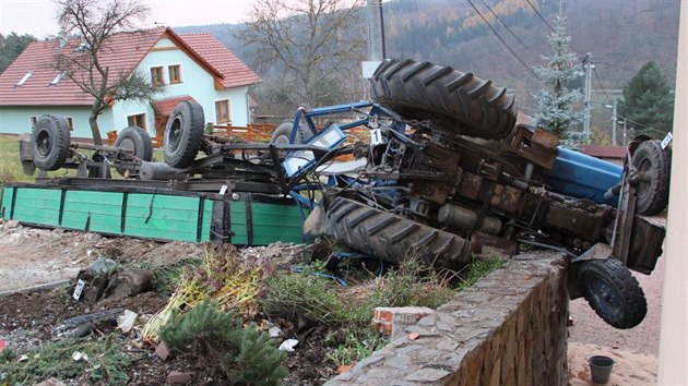
<path fill-rule="evenodd" d="M 365 55 L 361 1 L 257 0 L 236 37 L 263 76 L 260 94 L 276 111 L 351 100 Z M 284 109 L 288 109 L 285 111 Z M 281 110 L 282 111 L 278 111 Z"/>

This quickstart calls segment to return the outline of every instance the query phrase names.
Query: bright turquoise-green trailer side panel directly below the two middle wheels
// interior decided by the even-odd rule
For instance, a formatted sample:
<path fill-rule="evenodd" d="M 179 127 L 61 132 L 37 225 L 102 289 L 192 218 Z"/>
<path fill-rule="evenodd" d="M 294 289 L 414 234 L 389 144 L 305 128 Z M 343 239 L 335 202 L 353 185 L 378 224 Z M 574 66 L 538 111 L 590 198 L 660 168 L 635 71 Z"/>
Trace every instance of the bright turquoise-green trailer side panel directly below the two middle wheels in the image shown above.
<path fill-rule="evenodd" d="M 197 241 L 200 197 L 131 193 L 124 234 Z"/>

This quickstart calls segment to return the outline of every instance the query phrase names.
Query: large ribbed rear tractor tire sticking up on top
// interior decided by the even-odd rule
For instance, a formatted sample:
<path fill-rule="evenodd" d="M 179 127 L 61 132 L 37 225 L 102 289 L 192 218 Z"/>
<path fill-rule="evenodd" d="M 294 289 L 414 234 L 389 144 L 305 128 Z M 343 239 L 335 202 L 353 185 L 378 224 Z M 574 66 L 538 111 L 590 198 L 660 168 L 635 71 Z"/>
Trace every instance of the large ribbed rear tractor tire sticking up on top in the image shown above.
<path fill-rule="evenodd" d="M 515 123 L 515 97 L 472 73 L 414 60 L 385 60 L 371 95 L 404 119 L 485 140 L 501 140 Z"/>

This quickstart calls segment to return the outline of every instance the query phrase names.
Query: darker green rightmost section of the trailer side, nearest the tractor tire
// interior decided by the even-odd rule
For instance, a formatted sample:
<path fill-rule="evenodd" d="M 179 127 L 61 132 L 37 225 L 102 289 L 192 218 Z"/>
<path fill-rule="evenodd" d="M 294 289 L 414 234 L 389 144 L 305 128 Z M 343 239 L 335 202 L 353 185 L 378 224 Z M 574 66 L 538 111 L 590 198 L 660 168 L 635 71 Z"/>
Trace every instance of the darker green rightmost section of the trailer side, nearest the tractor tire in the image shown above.
<path fill-rule="evenodd" d="M 293 205 L 251 203 L 252 245 L 266 245 L 276 241 L 301 242 L 304 217 L 301 209 Z M 308 214 L 304 212 L 304 216 Z M 248 226 L 246 204 L 233 202 L 230 209 L 233 244 L 246 244 Z"/>

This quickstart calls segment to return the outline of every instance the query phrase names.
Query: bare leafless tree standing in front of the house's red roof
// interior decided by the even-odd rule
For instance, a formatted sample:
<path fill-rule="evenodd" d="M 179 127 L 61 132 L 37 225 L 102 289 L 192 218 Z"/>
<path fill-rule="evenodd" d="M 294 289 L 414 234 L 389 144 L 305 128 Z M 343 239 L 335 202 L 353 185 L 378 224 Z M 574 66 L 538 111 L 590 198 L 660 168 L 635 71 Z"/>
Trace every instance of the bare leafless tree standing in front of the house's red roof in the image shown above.
<path fill-rule="evenodd" d="M 93 142 L 103 144 L 98 116 L 116 100 L 149 101 L 161 93 L 144 74 L 132 69 L 110 73 L 99 56 L 108 48 L 112 35 L 134 31 L 137 22 L 145 19 L 149 8 L 139 0 L 57 0 L 58 21 L 62 38 L 79 38 L 76 47 L 60 49 L 51 65 L 61 71 L 84 93 L 94 97 L 88 123 Z M 145 32 L 138 32 L 145 34 Z M 75 49 L 71 49 L 75 48 Z"/>

